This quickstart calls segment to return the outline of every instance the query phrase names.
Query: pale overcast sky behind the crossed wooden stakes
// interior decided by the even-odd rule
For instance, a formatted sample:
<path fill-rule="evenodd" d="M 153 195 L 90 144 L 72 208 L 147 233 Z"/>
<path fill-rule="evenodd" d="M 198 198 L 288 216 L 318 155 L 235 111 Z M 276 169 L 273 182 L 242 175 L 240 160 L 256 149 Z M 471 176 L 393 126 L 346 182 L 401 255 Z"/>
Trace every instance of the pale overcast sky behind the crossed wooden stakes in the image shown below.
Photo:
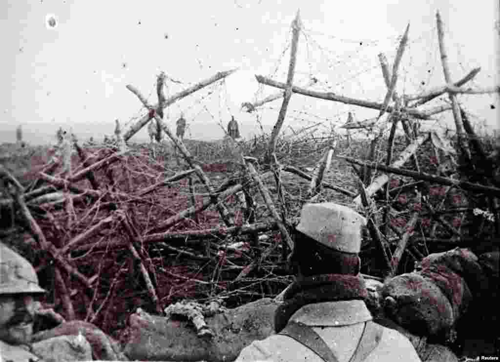
<path fill-rule="evenodd" d="M 112 134 L 114 119 L 129 125 L 144 113 L 125 85 L 155 103 L 156 75 L 169 77 L 171 95 L 218 71 L 240 67 L 224 83 L 206 87 L 166 111 L 170 124 L 184 112 L 190 136 L 220 138 L 218 123 L 236 116 L 244 136 L 258 132 L 255 115 L 241 114 L 243 101 L 276 89 L 259 87 L 253 74 L 285 81 L 290 23 L 300 8 L 303 30 L 294 83 L 310 76 L 314 89 L 381 101 L 385 85 L 377 54 L 392 64 L 406 24 L 409 43 L 397 90 L 414 94 L 444 82 L 435 12 L 445 27 L 451 76 L 476 66 L 473 86 L 498 82 L 498 1 L 96 1 L 2 0 L 0 31 L 0 142 L 13 141 L 23 125 L 26 140 L 46 143 L 59 125 L 81 138 Z M 47 25 L 55 15 L 56 26 Z M 498 128 L 498 95 L 466 95 L 460 101 L 472 120 Z M 280 101 L 259 112 L 265 127 L 277 117 Z M 494 107 L 494 109 L 492 109 Z M 293 95 L 286 125 L 339 125 L 348 111 L 356 119 L 377 112 Z M 449 112 L 448 112 L 449 113 Z M 441 115 L 441 119 L 449 116 Z M 144 131 L 137 139 L 145 135 Z"/>

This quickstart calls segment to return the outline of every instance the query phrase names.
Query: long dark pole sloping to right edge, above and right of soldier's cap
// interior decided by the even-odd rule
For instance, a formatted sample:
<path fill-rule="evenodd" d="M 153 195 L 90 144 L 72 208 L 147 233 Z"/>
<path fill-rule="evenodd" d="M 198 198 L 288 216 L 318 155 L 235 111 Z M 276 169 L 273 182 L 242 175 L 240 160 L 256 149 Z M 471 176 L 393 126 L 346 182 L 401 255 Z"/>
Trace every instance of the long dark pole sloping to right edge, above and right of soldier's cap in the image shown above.
<path fill-rule="evenodd" d="M 365 163 L 365 162 L 361 162 L 361 161 L 355 160 L 354 158 L 350 158 L 350 157 L 344 157 L 344 156 L 336 156 L 336 157 L 342 158 L 348 162 L 353 162 L 353 163 L 361 165 L 361 166 L 374 168 L 374 169 L 377 169 L 378 171 L 393 173 L 396 175 L 408 176 L 408 177 L 412 177 L 412 178 L 417 179 L 417 180 L 424 180 L 424 181 L 429 181 L 431 183 L 454 186 L 457 188 L 461 188 L 462 190 L 485 193 L 487 195 L 500 197 L 500 189 L 496 188 L 496 187 L 483 186 L 480 184 L 474 184 L 474 183 L 467 182 L 467 181 L 453 180 L 453 179 L 449 179 L 446 177 L 431 175 L 431 174 L 423 173 L 423 172 L 418 173 L 418 172 L 406 170 L 403 168 L 389 167 L 389 166 L 384 166 L 384 165 L 375 164 L 375 163 Z"/>

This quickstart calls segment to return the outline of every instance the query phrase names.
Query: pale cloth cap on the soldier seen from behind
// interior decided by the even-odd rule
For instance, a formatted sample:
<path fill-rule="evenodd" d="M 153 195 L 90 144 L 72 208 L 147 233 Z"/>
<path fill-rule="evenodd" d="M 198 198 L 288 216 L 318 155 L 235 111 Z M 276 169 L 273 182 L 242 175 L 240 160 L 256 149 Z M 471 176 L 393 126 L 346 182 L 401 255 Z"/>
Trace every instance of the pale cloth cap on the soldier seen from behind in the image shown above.
<path fill-rule="evenodd" d="M 296 230 L 327 248 L 357 254 L 365 225 L 366 219 L 351 208 L 324 202 L 304 205 Z"/>

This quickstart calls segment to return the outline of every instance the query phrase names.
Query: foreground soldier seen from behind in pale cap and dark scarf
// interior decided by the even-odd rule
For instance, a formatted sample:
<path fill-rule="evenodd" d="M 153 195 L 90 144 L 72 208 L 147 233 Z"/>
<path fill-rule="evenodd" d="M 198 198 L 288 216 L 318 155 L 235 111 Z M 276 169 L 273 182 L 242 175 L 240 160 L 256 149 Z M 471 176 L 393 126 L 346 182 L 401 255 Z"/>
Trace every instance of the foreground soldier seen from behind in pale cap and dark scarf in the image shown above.
<path fill-rule="evenodd" d="M 276 335 L 254 341 L 237 362 L 420 361 L 409 340 L 372 322 L 359 275 L 365 219 L 334 203 L 307 204 L 295 230 L 295 281 L 274 316 Z"/>

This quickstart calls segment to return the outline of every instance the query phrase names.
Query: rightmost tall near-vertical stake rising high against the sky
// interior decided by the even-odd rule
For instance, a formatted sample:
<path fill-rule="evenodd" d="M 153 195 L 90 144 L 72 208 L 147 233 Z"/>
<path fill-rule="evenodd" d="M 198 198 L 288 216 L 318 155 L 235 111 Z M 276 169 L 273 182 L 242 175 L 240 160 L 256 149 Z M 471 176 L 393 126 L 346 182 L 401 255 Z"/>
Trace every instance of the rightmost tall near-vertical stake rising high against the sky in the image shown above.
<path fill-rule="evenodd" d="M 446 54 L 446 47 L 444 46 L 444 31 L 442 28 L 441 16 L 439 15 L 439 11 L 436 12 L 436 24 L 437 24 L 437 37 L 439 40 L 439 51 L 441 52 L 441 62 L 442 62 L 442 70 L 444 73 L 444 79 L 447 84 L 451 83 L 451 76 L 449 73 L 448 66 L 448 55 Z M 453 111 L 453 119 L 455 120 L 455 128 L 456 135 L 458 138 L 458 144 L 464 153 L 464 156 L 467 160 L 470 160 L 470 151 L 464 138 L 463 134 L 463 126 L 462 126 L 462 117 L 460 115 L 460 110 L 458 108 L 458 102 L 456 101 L 456 96 L 454 93 L 448 92 L 449 100 L 451 101 L 451 110 Z"/>

